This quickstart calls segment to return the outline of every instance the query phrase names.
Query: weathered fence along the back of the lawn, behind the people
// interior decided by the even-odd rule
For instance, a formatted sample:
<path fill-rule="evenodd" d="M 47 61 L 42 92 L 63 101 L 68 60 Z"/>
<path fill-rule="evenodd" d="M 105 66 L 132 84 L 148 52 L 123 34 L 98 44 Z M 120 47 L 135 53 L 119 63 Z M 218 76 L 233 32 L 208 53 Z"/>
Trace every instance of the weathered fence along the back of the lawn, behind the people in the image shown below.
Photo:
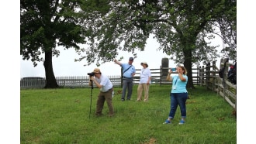
<path fill-rule="evenodd" d="M 140 70 L 137 69 L 137 73 L 133 77 L 133 84 L 139 84 L 140 81 Z M 152 84 L 171 84 L 171 81 L 166 81 L 169 67 L 160 67 L 159 69 L 150 69 L 151 72 L 151 83 Z M 192 73 L 193 83 L 199 84 L 199 68 L 193 68 Z M 121 72 L 120 72 L 121 73 Z M 174 73 L 177 74 L 177 73 Z M 114 87 L 123 87 L 123 79 L 121 75 L 108 76 Z M 60 87 L 90 87 L 88 85 L 88 76 L 71 76 L 71 77 L 55 77 L 57 84 Z M 43 88 L 46 84 L 45 77 L 23 77 L 20 80 L 20 88 Z"/>

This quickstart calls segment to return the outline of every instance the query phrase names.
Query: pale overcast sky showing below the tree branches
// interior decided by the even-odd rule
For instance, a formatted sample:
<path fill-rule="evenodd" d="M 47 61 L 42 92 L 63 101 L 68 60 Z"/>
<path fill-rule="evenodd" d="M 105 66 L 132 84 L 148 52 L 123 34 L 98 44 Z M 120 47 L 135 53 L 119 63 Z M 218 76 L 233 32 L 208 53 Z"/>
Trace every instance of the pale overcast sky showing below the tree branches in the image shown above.
<path fill-rule="evenodd" d="M 216 36 L 216 39 L 213 40 L 213 45 L 220 45 L 222 48 L 223 43 L 219 36 Z M 133 65 L 136 69 L 141 69 L 141 62 L 146 61 L 149 65 L 150 69 L 157 69 L 161 67 L 161 60 L 164 57 L 168 57 L 167 54 L 163 53 L 162 50 L 157 50 L 159 47 L 159 43 L 157 43 L 156 39 L 153 39 L 153 36 L 150 36 L 147 39 L 147 45 L 143 52 L 137 53 L 137 58 L 134 59 Z M 219 50 L 220 50 L 219 48 Z M 74 59 L 78 56 L 75 53 L 74 49 L 64 50 L 63 47 L 58 47 L 58 50 L 61 50 L 59 57 L 53 57 L 53 67 L 54 67 L 54 75 L 55 77 L 65 77 L 65 76 L 85 76 L 87 73 L 91 72 L 95 67 L 95 63 L 92 63 L 90 66 L 84 66 L 87 62 L 85 60 L 81 62 L 74 62 Z M 42 55 L 44 56 L 44 54 Z M 119 52 L 119 56 L 116 57 L 116 60 L 119 57 L 123 57 L 121 60 L 122 63 L 128 63 L 129 57 L 133 57 L 132 53 L 128 52 Z M 220 66 L 220 60 L 218 59 L 216 66 Z M 169 60 L 169 67 L 175 67 L 176 63 L 172 60 Z M 99 66 L 102 74 L 106 75 L 120 75 L 121 67 L 114 62 L 103 63 Z M 43 67 L 43 62 L 38 63 L 36 67 L 33 67 L 33 63 L 31 60 L 22 60 L 22 56 L 20 56 L 20 77 L 45 77 L 45 71 Z"/>

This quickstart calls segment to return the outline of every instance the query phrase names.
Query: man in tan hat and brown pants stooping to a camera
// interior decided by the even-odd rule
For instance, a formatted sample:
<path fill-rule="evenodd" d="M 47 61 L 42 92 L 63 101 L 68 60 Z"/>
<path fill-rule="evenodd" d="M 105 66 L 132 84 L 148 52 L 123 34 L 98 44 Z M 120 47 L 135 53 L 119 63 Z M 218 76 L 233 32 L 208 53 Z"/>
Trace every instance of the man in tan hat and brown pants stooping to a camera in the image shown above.
<path fill-rule="evenodd" d="M 109 80 L 109 77 L 106 77 L 101 73 L 99 68 L 95 68 L 92 73 L 88 73 L 90 77 L 89 85 L 92 85 L 92 81 L 95 83 L 97 87 L 99 87 L 99 95 L 97 100 L 97 107 L 96 107 L 96 116 L 102 115 L 102 109 L 104 106 L 104 102 L 106 101 L 109 107 L 109 116 L 114 115 L 114 108 L 112 106 L 112 83 Z"/>

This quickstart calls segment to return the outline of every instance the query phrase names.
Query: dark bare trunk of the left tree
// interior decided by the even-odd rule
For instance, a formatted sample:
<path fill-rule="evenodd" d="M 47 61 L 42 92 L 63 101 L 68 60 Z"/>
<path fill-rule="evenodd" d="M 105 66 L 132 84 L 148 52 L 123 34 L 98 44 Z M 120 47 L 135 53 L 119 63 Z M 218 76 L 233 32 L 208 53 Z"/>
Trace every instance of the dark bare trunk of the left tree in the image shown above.
<path fill-rule="evenodd" d="M 59 87 L 54 76 L 54 69 L 53 69 L 53 57 L 52 57 L 52 49 L 47 50 L 45 52 L 45 61 L 43 62 L 45 75 L 47 79 L 47 84 L 44 88 L 57 88 Z"/>

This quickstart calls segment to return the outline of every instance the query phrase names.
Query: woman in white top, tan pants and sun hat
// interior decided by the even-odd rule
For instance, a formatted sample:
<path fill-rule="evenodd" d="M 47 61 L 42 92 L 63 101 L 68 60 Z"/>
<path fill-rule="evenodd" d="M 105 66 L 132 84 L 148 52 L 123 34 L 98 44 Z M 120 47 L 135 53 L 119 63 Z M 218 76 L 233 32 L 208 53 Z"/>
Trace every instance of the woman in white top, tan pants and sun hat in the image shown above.
<path fill-rule="evenodd" d="M 140 82 L 137 88 L 137 100 L 141 101 L 141 94 L 144 90 L 144 102 L 148 101 L 148 91 L 150 86 L 150 79 L 151 79 L 151 73 L 150 69 L 148 68 L 147 62 L 140 63 L 140 65 L 143 67 L 140 70 Z"/>

